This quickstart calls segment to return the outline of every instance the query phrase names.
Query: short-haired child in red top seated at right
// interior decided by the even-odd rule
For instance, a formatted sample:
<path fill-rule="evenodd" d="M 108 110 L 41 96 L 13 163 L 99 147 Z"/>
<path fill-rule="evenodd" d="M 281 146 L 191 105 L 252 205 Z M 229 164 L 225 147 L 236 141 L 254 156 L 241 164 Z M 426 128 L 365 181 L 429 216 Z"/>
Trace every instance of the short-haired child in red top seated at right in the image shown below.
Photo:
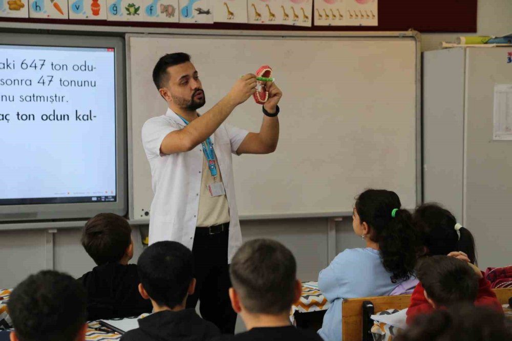
<path fill-rule="evenodd" d="M 455 257 L 435 255 L 418 262 L 416 275 L 423 288 L 423 297 L 417 298 L 417 292 L 413 294 L 411 307 L 407 310 L 408 324 L 420 314 L 459 303 L 491 306 L 503 312 L 490 285 L 485 290 L 479 288 L 482 272 L 471 263 Z"/>

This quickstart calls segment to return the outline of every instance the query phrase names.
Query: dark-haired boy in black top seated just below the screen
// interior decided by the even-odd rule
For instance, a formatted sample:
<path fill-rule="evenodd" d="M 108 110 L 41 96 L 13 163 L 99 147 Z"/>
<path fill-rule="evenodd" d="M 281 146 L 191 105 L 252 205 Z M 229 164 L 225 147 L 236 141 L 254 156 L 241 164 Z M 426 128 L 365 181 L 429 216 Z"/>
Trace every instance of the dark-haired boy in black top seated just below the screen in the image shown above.
<path fill-rule="evenodd" d="M 83 227 L 83 248 L 98 265 L 81 276 L 87 291 L 88 320 L 138 316 L 151 312 L 151 303 L 138 291 L 130 224 L 118 215 L 101 213 Z"/>

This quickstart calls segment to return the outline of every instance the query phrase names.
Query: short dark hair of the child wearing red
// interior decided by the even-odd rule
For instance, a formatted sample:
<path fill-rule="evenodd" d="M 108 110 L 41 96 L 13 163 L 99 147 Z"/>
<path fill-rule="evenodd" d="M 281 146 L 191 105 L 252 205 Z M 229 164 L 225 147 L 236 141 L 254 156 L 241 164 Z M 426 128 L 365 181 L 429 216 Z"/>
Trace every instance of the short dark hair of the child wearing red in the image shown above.
<path fill-rule="evenodd" d="M 423 289 L 438 306 L 473 303 L 478 294 L 478 275 L 464 261 L 435 255 L 425 257 L 416 270 Z"/>

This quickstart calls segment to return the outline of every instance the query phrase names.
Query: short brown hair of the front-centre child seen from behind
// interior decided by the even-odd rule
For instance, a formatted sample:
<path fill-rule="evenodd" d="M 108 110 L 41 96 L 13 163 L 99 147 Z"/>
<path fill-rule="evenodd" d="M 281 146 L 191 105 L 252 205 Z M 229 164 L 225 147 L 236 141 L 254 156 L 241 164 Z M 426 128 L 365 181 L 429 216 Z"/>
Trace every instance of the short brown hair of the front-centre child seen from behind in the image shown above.
<path fill-rule="evenodd" d="M 294 303 L 296 268 L 293 254 L 283 244 L 255 239 L 234 255 L 229 274 L 249 312 L 279 314 Z"/>

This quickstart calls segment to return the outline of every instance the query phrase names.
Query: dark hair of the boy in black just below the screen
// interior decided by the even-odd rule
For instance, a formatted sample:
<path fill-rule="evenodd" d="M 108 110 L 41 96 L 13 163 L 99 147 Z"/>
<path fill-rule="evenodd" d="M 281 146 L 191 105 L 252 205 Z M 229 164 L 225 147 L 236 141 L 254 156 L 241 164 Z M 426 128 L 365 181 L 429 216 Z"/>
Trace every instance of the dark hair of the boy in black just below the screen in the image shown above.
<path fill-rule="evenodd" d="M 117 263 L 132 243 L 132 228 L 126 219 L 100 213 L 88 220 L 82 231 L 82 245 L 98 265 Z"/>

